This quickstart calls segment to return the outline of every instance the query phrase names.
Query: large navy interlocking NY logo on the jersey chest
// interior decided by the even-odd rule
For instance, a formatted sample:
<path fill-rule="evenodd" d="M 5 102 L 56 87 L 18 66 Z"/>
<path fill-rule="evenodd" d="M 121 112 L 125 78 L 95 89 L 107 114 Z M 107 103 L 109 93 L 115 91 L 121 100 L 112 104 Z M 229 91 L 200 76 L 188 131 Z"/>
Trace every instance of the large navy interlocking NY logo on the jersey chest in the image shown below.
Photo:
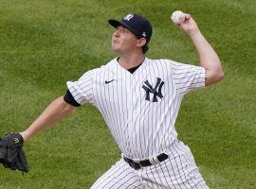
<path fill-rule="evenodd" d="M 159 98 L 163 97 L 163 94 L 161 92 L 163 84 L 164 81 L 161 81 L 161 78 L 157 77 L 155 88 L 153 88 L 149 81 L 146 80 L 144 82 L 144 85 L 142 86 L 142 88 L 146 91 L 146 100 L 150 101 L 150 94 L 154 94 L 153 102 L 158 102 L 157 96 Z"/>

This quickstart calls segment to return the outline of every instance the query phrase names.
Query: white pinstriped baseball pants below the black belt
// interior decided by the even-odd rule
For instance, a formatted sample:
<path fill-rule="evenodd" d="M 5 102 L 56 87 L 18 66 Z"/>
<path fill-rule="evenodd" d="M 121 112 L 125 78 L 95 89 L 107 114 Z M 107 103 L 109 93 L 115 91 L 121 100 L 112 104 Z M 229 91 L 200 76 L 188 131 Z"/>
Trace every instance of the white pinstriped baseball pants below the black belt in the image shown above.
<path fill-rule="evenodd" d="M 183 145 L 181 154 L 138 170 L 121 158 L 91 189 L 209 189 L 195 165 L 190 148 L 182 142 L 177 143 Z"/>

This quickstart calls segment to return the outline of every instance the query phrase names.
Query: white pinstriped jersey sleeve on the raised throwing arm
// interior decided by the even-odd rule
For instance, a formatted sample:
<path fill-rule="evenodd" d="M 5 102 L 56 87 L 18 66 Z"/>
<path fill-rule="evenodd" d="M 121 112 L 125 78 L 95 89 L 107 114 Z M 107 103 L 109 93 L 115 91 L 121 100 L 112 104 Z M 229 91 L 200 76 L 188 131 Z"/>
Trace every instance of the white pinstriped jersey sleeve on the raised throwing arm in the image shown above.
<path fill-rule="evenodd" d="M 187 94 L 205 86 L 206 69 L 204 67 L 172 61 L 172 74 L 178 94 Z"/>

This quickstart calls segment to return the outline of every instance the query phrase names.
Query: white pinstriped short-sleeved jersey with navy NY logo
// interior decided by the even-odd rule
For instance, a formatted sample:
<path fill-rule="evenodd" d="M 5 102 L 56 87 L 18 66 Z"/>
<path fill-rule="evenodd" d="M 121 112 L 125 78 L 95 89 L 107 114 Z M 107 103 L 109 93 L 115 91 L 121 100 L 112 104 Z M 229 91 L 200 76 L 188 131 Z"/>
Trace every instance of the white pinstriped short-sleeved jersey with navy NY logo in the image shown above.
<path fill-rule="evenodd" d="M 145 58 L 134 74 L 111 60 L 67 81 L 75 100 L 101 112 L 121 152 L 132 159 L 161 153 L 177 138 L 174 123 L 184 94 L 205 86 L 205 68 Z"/>

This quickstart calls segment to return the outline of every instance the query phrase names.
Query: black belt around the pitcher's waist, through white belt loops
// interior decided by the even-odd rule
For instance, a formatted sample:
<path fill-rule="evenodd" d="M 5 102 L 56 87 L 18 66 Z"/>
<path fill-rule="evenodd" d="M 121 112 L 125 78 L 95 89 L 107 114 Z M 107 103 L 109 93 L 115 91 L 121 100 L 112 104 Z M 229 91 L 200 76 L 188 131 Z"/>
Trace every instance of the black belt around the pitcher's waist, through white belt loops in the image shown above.
<path fill-rule="evenodd" d="M 159 161 L 159 162 L 163 162 L 165 161 L 169 156 L 165 153 L 161 153 L 160 155 L 156 156 L 156 159 Z M 150 160 L 142 160 L 142 161 L 134 161 L 132 159 L 129 159 L 127 157 L 123 157 L 123 160 L 128 163 L 132 168 L 134 169 L 139 169 L 143 166 L 150 166 L 150 165 L 153 165 L 153 163 L 150 162 Z"/>

